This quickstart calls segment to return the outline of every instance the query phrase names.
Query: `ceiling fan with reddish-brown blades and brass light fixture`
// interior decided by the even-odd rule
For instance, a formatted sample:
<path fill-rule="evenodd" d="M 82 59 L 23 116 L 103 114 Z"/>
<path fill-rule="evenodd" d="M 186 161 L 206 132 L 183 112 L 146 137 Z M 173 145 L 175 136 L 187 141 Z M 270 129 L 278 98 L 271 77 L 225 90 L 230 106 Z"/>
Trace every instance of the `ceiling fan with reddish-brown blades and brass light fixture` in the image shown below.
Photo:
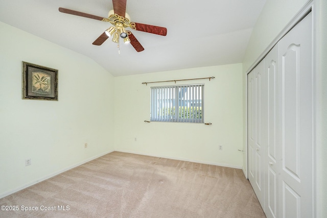
<path fill-rule="evenodd" d="M 110 22 L 113 26 L 104 31 L 92 44 L 101 45 L 105 40 L 112 36 L 112 41 L 119 44 L 119 37 L 124 40 L 124 43 L 133 45 L 137 52 L 142 52 L 144 47 L 139 43 L 131 31 L 125 30 L 129 27 L 132 30 L 153 33 L 161 36 L 167 35 L 167 28 L 147 25 L 144 23 L 131 22 L 129 15 L 126 13 L 127 0 L 112 0 L 113 10 L 109 11 L 108 18 L 86 14 L 79 11 L 74 11 L 66 8 L 59 8 L 59 11 L 66 14 L 73 14 L 81 17 Z"/>

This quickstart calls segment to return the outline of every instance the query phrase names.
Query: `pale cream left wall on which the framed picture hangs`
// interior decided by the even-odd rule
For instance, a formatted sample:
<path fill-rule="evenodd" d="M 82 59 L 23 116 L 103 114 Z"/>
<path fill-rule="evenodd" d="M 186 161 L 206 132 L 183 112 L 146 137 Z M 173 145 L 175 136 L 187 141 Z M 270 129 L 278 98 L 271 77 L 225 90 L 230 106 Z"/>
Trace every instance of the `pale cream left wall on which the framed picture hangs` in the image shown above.
<path fill-rule="evenodd" d="M 89 58 L 3 22 L 0 33 L 1 198 L 114 148 L 113 77 Z M 22 61 L 58 69 L 58 102 L 21 99 Z"/>

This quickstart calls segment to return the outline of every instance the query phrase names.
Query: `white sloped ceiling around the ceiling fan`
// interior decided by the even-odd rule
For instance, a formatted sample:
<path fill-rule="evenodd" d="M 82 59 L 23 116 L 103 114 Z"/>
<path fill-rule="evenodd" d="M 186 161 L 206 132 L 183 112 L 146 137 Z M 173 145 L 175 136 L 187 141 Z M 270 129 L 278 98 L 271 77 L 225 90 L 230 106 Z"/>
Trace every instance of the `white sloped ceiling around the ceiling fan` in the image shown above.
<path fill-rule="evenodd" d="M 241 63 L 266 0 L 127 0 L 131 21 L 166 27 L 167 36 L 134 31 L 145 50 L 107 39 L 109 22 L 64 14 L 59 7 L 107 17 L 111 0 L 7 0 L 0 21 L 95 60 L 113 76 Z"/>

